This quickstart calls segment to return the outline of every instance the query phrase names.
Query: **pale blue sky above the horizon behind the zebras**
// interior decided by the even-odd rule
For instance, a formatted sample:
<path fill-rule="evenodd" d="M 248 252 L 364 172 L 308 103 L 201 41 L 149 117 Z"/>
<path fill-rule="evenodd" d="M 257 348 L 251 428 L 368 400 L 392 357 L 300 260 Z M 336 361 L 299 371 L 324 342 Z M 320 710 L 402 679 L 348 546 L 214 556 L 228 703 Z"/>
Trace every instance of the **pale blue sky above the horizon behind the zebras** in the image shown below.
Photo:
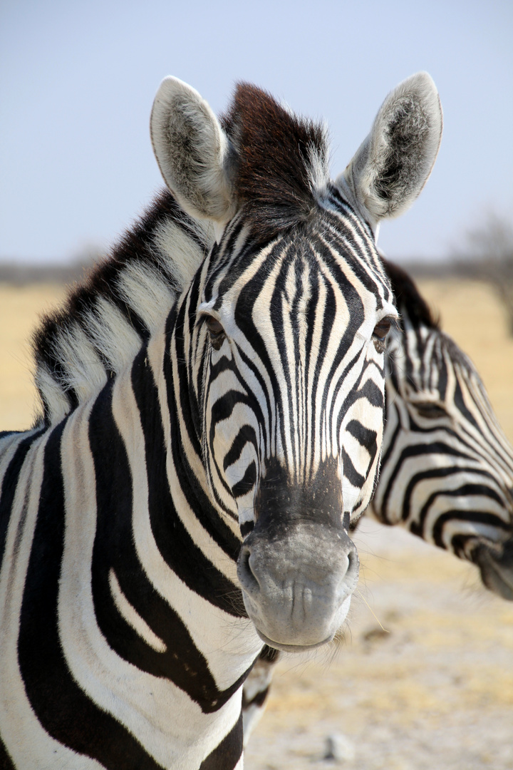
<path fill-rule="evenodd" d="M 161 186 L 148 118 L 165 75 L 216 112 L 245 79 L 324 118 L 335 176 L 421 69 L 441 95 L 441 151 L 380 246 L 439 259 L 486 210 L 513 216 L 512 40 L 511 0 L 2 0 L 0 259 L 63 262 L 142 212 Z"/>

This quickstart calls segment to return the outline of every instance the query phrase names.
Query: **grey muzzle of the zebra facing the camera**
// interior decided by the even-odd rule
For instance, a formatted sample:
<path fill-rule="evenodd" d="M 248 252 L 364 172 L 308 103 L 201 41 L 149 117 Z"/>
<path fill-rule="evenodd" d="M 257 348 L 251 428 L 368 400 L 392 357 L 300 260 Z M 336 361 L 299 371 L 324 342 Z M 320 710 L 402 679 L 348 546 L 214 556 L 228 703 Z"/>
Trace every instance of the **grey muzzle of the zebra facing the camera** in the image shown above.
<path fill-rule="evenodd" d="M 242 544 L 238 577 L 260 638 L 291 652 L 331 641 L 348 613 L 358 568 L 355 545 L 341 525 L 257 524 Z"/>

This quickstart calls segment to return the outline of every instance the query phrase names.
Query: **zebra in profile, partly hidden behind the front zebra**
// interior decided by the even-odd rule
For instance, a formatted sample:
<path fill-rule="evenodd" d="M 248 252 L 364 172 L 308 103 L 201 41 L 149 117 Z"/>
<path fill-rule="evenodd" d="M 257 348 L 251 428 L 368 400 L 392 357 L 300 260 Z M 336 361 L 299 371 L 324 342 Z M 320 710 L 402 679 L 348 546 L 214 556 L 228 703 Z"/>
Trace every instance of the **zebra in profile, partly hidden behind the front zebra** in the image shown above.
<path fill-rule="evenodd" d="M 513 601 L 513 447 L 471 360 L 408 273 L 381 260 L 400 323 L 387 340 L 381 469 L 365 513 L 477 564 L 486 588 Z M 245 742 L 278 658 L 264 648 L 245 681 Z"/>

